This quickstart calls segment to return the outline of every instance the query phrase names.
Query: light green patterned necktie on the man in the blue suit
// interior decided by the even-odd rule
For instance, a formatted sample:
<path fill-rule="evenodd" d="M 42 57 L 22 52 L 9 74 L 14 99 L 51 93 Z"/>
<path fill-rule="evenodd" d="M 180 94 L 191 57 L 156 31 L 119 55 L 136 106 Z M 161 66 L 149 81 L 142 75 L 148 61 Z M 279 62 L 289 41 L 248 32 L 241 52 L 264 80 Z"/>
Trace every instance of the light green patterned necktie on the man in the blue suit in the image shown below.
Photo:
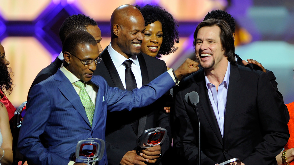
<path fill-rule="evenodd" d="M 80 88 L 80 92 L 78 92 L 78 96 L 80 96 L 81 102 L 85 108 L 87 117 L 92 127 L 93 115 L 95 110 L 95 105 L 93 104 L 90 96 L 88 95 L 85 84 L 81 81 L 77 81 L 74 83 L 78 88 Z"/>

